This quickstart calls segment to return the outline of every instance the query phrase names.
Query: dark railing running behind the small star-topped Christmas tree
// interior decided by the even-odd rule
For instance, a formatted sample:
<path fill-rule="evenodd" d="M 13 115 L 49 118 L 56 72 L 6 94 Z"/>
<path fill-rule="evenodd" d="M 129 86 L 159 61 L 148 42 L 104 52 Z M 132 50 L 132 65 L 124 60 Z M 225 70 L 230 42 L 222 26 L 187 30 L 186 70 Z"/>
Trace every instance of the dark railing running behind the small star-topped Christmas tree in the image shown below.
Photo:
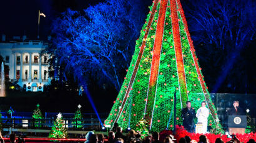
<path fill-rule="evenodd" d="M 102 129 L 101 122 L 98 119 L 62 119 L 65 127 L 70 130 L 85 131 Z M 23 119 L 23 118 L 0 118 L 2 128 L 19 129 L 51 129 L 55 119 Z M 102 119 L 104 122 L 104 119 Z"/>

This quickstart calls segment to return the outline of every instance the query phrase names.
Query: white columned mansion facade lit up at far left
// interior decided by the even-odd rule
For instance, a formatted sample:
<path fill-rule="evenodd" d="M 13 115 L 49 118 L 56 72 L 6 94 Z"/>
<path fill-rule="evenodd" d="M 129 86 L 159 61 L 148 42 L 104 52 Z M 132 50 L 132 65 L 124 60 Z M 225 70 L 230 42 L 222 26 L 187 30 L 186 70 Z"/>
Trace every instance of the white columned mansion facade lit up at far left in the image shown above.
<path fill-rule="evenodd" d="M 49 55 L 41 55 L 47 44 L 42 41 L 2 42 L 0 55 L 9 66 L 9 79 L 18 81 L 26 91 L 43 91 L 49 85 Z"/>

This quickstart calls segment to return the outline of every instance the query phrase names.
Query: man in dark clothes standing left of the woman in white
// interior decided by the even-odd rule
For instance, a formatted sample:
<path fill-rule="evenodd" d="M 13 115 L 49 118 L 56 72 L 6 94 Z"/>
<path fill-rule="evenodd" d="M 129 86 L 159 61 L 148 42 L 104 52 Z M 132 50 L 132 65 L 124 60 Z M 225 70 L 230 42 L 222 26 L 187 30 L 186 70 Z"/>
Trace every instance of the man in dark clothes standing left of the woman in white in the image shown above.
<path fill-rule="evenodd" d="M 188 132 L 195 130 L 195 109 L 191 108 L 191 102 L 187 101 L 187 108 L 182 109 L 183 126 Z"/>

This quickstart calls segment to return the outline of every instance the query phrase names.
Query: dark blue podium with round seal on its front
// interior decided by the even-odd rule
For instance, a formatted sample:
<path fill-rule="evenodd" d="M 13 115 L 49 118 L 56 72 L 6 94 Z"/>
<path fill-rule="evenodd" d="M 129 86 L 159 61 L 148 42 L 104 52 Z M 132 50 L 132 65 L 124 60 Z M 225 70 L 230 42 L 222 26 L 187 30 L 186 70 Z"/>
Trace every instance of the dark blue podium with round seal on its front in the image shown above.
<path fill-rule="evenodd" d="M 247 119 L 245 115 L 229 115 L 227 123 L 229 134 L 245 134 Z"/>

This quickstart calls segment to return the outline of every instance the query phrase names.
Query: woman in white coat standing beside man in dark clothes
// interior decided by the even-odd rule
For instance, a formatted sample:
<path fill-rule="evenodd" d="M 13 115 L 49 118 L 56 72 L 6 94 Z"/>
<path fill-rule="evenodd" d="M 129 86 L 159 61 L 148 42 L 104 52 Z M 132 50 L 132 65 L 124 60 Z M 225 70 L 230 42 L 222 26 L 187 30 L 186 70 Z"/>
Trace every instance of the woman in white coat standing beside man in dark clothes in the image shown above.
<path fill-rule="evenodd" d="M 208 123 L 208 116 L 209 116 L 209 109 L 205 107 L 205 101 L 202 101 L 201 107 L 197 110 L 197 124 L 202 124 L 202 132 L 205 134 L 207 132 L 207 123 Z"/>

